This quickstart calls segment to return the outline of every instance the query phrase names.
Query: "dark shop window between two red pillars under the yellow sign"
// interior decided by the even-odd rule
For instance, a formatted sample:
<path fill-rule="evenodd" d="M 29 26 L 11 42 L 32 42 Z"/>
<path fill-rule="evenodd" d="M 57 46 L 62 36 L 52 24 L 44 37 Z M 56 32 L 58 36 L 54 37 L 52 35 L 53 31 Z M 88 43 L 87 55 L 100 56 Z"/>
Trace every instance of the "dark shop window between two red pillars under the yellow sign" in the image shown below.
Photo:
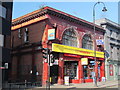
<path fill-rule="evenodd" d="M 64 75 L 69 76 L 70 79 L 78 79 L 78 62 L 77 61 L 65 61 Z"/>

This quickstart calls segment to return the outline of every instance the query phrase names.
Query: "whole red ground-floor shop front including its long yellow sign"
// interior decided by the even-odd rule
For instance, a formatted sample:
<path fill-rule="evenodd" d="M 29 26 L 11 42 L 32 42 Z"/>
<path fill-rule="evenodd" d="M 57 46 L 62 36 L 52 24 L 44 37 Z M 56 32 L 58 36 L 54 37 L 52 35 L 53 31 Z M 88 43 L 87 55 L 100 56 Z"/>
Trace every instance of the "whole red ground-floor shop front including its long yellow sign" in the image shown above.
<path fill-rule="evenodd" d="M 104 53 L 60 44 L 52 44 L 53 52 L 60 52 L 58 84 L 64 84 L 64 77 L 69 76 L 70 83 L 93 82 L 96 73 L 97 81 L 105 77 Z"/>

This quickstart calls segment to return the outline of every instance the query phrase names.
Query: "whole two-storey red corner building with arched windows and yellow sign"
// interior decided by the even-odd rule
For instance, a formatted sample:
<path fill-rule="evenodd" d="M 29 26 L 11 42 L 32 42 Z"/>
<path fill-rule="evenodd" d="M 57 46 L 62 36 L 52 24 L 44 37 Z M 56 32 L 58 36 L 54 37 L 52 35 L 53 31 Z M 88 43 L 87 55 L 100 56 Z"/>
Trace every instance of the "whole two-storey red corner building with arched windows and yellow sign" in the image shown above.
<path fill-rule="evenodd" d="M 49 48 L 55 56 L 50 65 L 51 82 L 64 84 L 93 82 L 105 77 L 104 45 L 97 45 L 94 64 L 93 23 L 51 7 L 31 12 L 12 21 L 12 73 L 11 80 L 48 80 L 48 62 L 42 57 L 42 48 Z M 96 39 L 103 39 L 105 30 L 96 26 Z M 36 74 L 37 73 L 37 74 Z M 31 76 L 32 75 L 32 76 Z"/>

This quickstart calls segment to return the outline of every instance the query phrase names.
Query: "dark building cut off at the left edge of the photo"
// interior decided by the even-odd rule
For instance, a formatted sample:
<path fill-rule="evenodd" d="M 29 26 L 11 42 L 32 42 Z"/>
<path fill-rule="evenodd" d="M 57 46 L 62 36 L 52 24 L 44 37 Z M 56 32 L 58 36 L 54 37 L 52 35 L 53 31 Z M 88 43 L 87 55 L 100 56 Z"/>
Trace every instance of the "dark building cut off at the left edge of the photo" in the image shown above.
<path fill-rule="evenodd" d="M 10 35 L 12 2 L 0 1 L 0 81 L 8 82 L 10 70 Z"/>

